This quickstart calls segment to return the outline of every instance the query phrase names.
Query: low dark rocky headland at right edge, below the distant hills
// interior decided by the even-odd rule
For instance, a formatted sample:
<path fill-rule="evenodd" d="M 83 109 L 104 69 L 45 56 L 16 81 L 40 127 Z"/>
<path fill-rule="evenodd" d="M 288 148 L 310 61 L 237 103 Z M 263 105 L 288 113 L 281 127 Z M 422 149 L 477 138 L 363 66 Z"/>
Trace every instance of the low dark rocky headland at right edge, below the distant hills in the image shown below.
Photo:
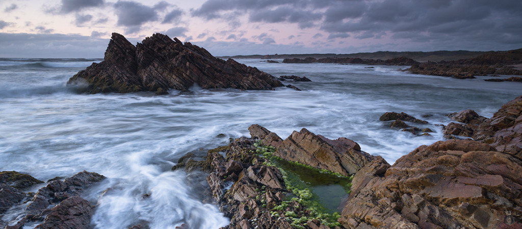
<path fill-rule="evenodd" d="M 458 61 L 423 62 L 406 71 L 414 74 L 474 78 L 475 75 L 522 75 L 513 65 L 522 63 L 522 49 L 492 52 Z M 495 79 L 496 81 L 496 79 Z"/>

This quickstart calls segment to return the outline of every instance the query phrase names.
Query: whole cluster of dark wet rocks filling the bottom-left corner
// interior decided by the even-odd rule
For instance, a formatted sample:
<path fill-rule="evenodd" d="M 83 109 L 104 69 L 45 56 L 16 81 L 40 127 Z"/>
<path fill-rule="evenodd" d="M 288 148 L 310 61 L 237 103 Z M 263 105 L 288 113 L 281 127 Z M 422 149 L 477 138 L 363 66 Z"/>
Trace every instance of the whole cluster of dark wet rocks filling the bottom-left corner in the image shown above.
<path fill-rule="evenodd" d="M 14 225 L 0 220 L 0 228 L 4 229 L 20 229 L 29 222 L 42 222 L 34 227 L 37 229 L 88 229 L 94 207 L 80 195 L 89 186 L 105 179 L 97 173 L 82 171 L 65 180 L 49 181 L 37 193 L 25 193 L 23 189 L 43 182 L 15 171 L 0 172 L 0 176 L 0 214 L 16 204 L 30 201 L 24 210 L 25 216 Z M 4 179 L 7 176 L 8 179 Z"/>

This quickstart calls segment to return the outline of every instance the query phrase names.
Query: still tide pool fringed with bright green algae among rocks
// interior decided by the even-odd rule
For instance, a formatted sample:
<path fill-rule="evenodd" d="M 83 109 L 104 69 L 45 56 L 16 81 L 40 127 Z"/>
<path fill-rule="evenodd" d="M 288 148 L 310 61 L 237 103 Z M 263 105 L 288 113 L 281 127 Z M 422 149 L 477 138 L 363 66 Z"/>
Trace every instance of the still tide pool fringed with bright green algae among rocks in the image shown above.
<path fill-rule="evenodd" d="M 267 159 L 265 165 L 274 166 L 281 171 L 287 190 L 293 194 L 293 197 L 271 209 L 272 216 L 279 217 L 280 214 L 284 214 L 294 228 L 304 228 L 303 224 L 313 219 L 329 227 L 340 225 L 337 222 L 340 217 L 340 204 L 351 191 L 353 176 L 342 176 L 329 170 L 286 161 L 274 156 L 275 147 L 264 146 L 260 141 L 256 141 L 254 146 L 255 153 Z M 295 212 L 283 212 L 293 201 L 303 205 L 309 216 L 298 217 Z"/>

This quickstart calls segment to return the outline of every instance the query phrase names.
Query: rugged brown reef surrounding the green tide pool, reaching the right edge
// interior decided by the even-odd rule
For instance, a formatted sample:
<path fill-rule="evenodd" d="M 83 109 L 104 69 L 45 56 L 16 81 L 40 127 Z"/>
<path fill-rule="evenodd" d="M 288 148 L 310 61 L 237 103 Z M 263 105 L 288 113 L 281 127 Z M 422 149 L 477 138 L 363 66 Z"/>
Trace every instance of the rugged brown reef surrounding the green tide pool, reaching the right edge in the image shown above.
<path fill-rule="evenodd" d="M 522 96 L 489 119 L 471 110 L 450 117 L 459 123 L 444 127 L 454 130 L 449 140 L 422 145 L 394 165 L 346 138 L 302 129 L 283 140 L 255 124 L 251 138 L 185 168 L 209 171 L 212 196 L 231 219 L 225 228 L 522 228 Z M 381 119 L 424 122 L 394 112 Z M 455 126 L 473 139 L 451 139 Z M 316 193 L 296 185 L 286 163 L 350 182 L 340 213 L 318 207 Z"/>

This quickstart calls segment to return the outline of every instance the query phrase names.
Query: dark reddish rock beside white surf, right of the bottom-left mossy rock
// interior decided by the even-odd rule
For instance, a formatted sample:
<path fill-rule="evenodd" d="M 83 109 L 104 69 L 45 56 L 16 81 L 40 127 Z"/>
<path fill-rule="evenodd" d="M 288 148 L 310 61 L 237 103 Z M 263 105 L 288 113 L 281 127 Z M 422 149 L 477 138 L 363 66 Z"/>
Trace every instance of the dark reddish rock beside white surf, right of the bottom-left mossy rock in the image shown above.
<path fill-rule="evenodd" d="M 80 194 L 88 187 L 105 179 L 97 173 L 82 171 L 65 180 L 53 180 L 34 195 L 27 205 L 26 216 L 15 225 L 5 229 L 20 229 L 27 222 L 43 221 L 35 228 L 89 228 L 94 212 L 92 204 L 82 199 Z M 49 206 L 55 205 L 53 208 Z"/>

